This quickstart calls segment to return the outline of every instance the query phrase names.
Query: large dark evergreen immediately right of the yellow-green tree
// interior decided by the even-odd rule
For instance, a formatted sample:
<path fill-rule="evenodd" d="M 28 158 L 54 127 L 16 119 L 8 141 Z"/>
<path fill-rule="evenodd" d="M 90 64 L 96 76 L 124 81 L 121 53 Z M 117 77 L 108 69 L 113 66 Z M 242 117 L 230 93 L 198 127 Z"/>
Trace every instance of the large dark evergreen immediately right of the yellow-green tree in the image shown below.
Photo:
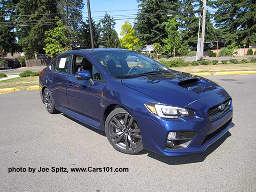
<path fill-rule="evenodd" d="M 146 44 L 160 43 L 167 37 L 164 22 L 168 20 L 168 14 L 179 11 L 178 0 L 137 0 L 141 8 L 138 11 L 135 30 L 136 36 L 141 43 Z"/>

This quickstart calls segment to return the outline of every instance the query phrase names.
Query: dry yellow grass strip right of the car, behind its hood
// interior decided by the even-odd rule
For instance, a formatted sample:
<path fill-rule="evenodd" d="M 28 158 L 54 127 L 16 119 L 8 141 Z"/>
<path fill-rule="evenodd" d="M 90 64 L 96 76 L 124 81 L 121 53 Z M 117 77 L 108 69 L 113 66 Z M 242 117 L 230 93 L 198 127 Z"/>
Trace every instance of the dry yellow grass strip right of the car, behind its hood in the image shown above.
<path fill-rule="evenodd" d="M 248 64 L 216 64 L 216 65 L 199 65 L 187 67 L 172 67 L 176 71 L 186 73 L 203 73 L 209 72 L 211 74 L 224 71 L 256 71 L 256 63 Z"/>

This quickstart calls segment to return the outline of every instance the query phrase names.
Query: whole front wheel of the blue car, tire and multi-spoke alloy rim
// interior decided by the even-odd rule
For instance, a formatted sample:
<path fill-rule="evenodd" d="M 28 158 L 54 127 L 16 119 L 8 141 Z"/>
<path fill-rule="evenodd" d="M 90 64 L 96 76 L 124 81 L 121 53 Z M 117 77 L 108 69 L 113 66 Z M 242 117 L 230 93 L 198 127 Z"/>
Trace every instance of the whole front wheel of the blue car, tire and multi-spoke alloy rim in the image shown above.
<path fill-rule="evenodd" d="M 105 133 L 119 152 L 137 154 L 143 150 L 142 137 L 136 120 L 123 108 L 116 108 L 106 119 Z"/>

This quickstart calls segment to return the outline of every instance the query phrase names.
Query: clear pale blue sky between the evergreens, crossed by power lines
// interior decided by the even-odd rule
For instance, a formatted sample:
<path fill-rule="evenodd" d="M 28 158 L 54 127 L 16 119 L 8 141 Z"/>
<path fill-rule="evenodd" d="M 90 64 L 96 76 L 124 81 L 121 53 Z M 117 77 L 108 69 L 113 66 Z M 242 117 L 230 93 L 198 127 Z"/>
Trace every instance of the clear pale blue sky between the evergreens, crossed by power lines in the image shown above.
<path fill-rule="evenodd" d="M 84 8 L 82 10 L 82 16 L 84 20 L 88 17 L 86 1 L 87 0 L 83 0 Z M 117 23 L 115 26 L 115 30 L 117 31 L 119 37 L 121 37 L 120 31 L 121 31 L 122 25 L 124 24 L 124 21 L 129 20 L 131 23 L 134 22 L 134 18 L 136 17 L 135 14 L 137 14 L 138 4 L 137 4 L 137 0 L 90 0 L 90 7 L 91 7 L 91 17 L 93 18 L 94 21 L 98 21 L 101 18 L 103 18 L 105 12 L 107 12 L 114 19 L 121 19 L 121 20 L 115 21 Z M 113 10 L 127 10 L 127 11 L 113 11 Z M 95 12 L 95 11 L 102 11 L 102 12 Z M 124 19 L 124 18 L 130 18 L 130 19 Z"/>

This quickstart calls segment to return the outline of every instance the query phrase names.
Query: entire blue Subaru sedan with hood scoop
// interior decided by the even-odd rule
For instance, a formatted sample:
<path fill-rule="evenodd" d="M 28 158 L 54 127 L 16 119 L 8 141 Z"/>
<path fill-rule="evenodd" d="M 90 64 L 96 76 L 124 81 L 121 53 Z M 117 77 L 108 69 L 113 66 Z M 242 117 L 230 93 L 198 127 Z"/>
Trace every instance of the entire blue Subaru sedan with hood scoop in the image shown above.
<path fill-rule="evenodd" d="M 122 153 L 199 153 L 234 126 L 218 84 L 130 50 L 65 52 L 40 73 L 39 87 L 49 113 L 105 131 Z"/>

